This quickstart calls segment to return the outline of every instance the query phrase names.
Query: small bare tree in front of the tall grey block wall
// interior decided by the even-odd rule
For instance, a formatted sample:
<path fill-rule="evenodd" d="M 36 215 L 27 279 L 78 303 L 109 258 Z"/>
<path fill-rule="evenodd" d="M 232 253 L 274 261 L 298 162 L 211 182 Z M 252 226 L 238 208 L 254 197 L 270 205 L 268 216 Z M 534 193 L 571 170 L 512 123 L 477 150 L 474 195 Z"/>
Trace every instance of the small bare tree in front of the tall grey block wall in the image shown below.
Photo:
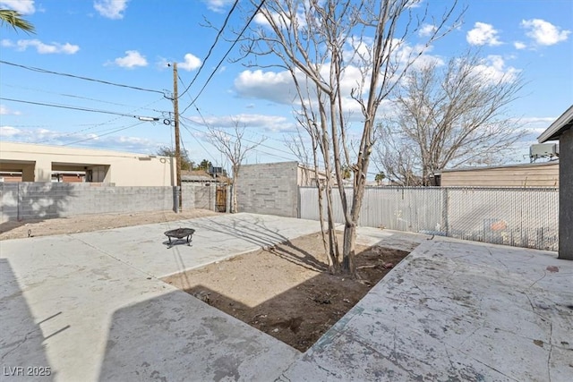
<path fill-rule="evenodd" d="M 236 200 L 236 181 L 239 178 L 241 172 L 241 165 L 244 162 L 246 154 L 255 149 L 262 142 L 266 140 L 265 137 L 261 137 L 259 140 L 253 141 L 244 139 L 245 126 L 240 124 L 239 120 L 234 120 L 234 132 L 229 134 L 223 129 L 218 129 L 214 127 L 208 127 L 209 133 L 206 138 L 215 146 L 218 151 L 223 154 L 229 162 L 231 162 L 231 171 L 233 179 L 233 187 L 231 188 L 231 212 L 237 213 L 238 204 Z"/>

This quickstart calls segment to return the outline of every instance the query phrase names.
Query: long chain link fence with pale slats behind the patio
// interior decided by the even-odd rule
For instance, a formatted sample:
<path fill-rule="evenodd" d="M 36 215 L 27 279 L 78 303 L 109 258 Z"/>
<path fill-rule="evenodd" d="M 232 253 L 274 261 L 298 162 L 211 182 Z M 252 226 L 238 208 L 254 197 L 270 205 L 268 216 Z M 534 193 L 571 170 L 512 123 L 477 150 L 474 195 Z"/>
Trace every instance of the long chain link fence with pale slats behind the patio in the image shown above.
<path fill-rule="evenodd" d="M 338 190 L 332 192 L 344 222 Z M 346 189 L 350 205 L 352 189 Z M 300 188 L 300 211 L 318 220 L 318 191 Z M 325 211 L 326 215 L 326 211 Z M 438 234 L 538 250 L 557 250 L 559 189 L 374 187 L 366 189 L 359 225 Z"/>

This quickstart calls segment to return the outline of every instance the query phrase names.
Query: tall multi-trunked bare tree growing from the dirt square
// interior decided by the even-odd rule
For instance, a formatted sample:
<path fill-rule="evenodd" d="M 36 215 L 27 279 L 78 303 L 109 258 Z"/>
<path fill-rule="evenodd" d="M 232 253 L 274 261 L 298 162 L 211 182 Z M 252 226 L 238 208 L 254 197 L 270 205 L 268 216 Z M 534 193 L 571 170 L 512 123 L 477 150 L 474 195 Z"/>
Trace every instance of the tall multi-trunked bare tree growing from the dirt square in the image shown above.
<path fill-rule="evenodd" d="M 252 4 L 259 3 L 252 1 Z M 264 22 L 244 41 L 244 55 L 275 55 L 295 79 L 315 86 L 318 113 L 314 123 L 329 139 L 323 160 L 332 168 L 345 218 L 342 269 L 355 276 L 356 225 L 362 208 L 366 174 L 374 143 L 375 116 L 382 100 L 404 76 L 425 47 L 451 29 L 446 22 L 457 1 L 438 19 L 417 0 L 267 0 L 259 10 Z M 255 4 L 257 5 L 257 4 Z M 432 23 L 423 45 L 410 47 L 407 38 Z M 355 77 L 352 89 L 344 84 Z M 347 141 L 345 104 L 354 102 L 363 119 L 355 155 Z M 325 147 L 326 148 L 326 147 Z M 343 184 L 345 164 L 351 164 L 353 194 L 349 202 Z M 332 227 L 331 229 L 334 229 Z"/>

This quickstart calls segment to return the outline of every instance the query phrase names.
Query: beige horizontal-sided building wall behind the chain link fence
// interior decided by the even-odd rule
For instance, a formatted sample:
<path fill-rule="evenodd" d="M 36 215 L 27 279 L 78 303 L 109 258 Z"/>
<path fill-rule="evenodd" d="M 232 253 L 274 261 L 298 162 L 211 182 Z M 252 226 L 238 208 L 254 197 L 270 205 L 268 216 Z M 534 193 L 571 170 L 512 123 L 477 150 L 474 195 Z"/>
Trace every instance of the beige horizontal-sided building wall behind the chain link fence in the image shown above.
<path fill-rule="evenodd" d="M 559 162 L 445 170 L 442 187 L 559 187 Z"/>

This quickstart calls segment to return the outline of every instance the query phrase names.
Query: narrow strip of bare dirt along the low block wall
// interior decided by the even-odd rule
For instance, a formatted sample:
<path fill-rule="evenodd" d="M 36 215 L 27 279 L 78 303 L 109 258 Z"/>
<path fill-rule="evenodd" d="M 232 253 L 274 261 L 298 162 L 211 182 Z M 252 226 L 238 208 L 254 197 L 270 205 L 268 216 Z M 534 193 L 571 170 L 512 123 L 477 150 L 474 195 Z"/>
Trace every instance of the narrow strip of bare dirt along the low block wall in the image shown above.
<path fill-rule="evenodd" d="M 0 240 L 21 239 L 31 236 L 92 232 L 132 225 L 173 222 L 197 217 L 219 215 L 208 209 L 192 209 L 176 214 L 173 211 L 133 212 L 129 214 L 94 214 L 54 219 L 27 219 L 0 224 Z"/>

